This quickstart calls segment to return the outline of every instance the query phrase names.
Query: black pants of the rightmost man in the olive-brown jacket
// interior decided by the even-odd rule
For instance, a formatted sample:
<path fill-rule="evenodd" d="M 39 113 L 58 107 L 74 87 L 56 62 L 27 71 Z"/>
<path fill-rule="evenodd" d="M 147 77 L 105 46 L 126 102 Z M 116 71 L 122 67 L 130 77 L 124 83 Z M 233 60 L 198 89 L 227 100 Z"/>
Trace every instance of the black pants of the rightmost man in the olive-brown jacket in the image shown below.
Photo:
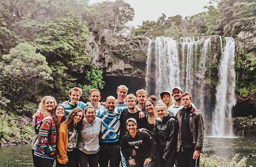
<path fill-rule="evenodd" d="M 180 148 L 177 153 L 178 167 L 199 167 L 200 155 L 198 159 L 193 159 L 194 149 Z"/>

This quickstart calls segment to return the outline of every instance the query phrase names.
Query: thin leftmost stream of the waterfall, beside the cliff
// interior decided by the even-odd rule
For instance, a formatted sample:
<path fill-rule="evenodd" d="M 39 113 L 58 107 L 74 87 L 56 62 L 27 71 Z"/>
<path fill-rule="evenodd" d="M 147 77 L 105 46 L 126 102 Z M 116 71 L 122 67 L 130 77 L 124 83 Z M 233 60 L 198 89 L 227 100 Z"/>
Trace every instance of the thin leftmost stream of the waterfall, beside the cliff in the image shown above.
<path fill-rule="evenodd" d="M 147 37 L 146 37 L 147 38 Z M 150 73 L 151 73 L 151 56 L 152 56 L 152 40 L 150 38 L 147 38 L 149 40 L 149 46 L 148 46 L 148 53 L 147 53 L 147 60 L 146 60 L 146 91 L 150 92 L 150 86 L 149 86 L 149 81 L 150 81 Z"/>

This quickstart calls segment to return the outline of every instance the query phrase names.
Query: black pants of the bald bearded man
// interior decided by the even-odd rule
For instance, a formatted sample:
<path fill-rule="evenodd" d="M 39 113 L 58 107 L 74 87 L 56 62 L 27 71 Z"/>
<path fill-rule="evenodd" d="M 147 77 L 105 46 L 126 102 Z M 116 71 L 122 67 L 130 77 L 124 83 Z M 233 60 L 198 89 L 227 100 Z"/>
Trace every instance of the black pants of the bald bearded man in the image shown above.
<path fill-rule="evenodd" d="M 108 161 L 110 161 L 110 167 L 119 167 L 120 159 L 121 155 L 118 142 L 100 143 L 99 167 L 108 167 Z"/>

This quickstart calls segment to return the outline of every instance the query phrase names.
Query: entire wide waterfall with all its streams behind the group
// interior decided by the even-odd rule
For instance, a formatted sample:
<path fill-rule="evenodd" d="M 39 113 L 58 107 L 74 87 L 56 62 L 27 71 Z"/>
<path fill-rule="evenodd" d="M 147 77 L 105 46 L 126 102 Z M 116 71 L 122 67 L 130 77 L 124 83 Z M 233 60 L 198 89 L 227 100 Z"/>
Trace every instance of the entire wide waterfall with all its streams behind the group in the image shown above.
<path fill-rule="evenodd" d="M 192 93 L 193 103 L 204 112 L 206 121 L 212 123 L 212 129 L 209 128 L 207 134 L 212 131 L 214 136 L 232 136 L 232 124 L 225 124 L 225 118 L 231 118 L 232 106 L 236 104 L 235 41 L 225 38 L 226 45 L 222 49 L 222 39 L 212 36 L 179 39 L 157 37 L 149 40 L 146 89 L 159 96 L 161 91 L 171 91 L 174 86 L 180 86 Z M 217 45 L 211 41 L 217 41 Z M 218 54 L 222 55 L 219 61 Z M 215 90 L 214 78 L 217 75 L 219 84 Z"/>

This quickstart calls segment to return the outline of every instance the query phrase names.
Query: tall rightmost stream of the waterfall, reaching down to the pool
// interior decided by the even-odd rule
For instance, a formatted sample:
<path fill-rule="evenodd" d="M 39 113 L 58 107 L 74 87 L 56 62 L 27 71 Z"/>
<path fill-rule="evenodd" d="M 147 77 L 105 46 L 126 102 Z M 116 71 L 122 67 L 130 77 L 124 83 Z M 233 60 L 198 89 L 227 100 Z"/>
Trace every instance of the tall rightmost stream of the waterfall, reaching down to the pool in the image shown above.
<path fill-rule="evenodd" d="M 219 65 L 219 84 L 216 87 L 216 106 L 213 113 L 212 134 L 216 137 L 232 136 L 232 107 L 235 106 L 235 40 L 226 37 L 226 45 Z"/>

